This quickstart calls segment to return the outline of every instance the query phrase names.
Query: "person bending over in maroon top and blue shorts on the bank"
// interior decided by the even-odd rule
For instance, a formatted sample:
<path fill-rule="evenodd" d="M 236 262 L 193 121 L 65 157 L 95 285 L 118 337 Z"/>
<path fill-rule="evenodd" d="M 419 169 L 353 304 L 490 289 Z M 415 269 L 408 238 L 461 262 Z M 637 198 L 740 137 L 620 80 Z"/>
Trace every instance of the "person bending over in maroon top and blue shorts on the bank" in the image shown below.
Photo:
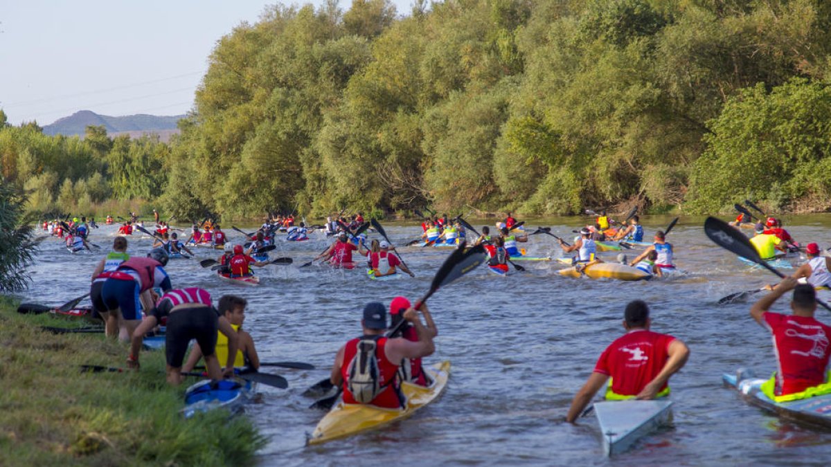
<path fill-rule="evenodd" d="M 114 271 L 104 271 L 95 279 L 103 281 L 100 293 L 91 294 L 91 300 L 98 303 L 96 308 L 104 310 L 101 317 L 106 322 L 111 313 L 119 319 L 120 337 L 128 340 L 141 321 L 141 309 L 153 307 L 155 292 L 161 288 L 167 292 L 172 287 L 165 272 L 167 253 L 161 248 L 154 248 L 147 253 L 147 258 L 130 258 L 120 263 Z M 108 334 L 110 337 L 115 336 Z"/>

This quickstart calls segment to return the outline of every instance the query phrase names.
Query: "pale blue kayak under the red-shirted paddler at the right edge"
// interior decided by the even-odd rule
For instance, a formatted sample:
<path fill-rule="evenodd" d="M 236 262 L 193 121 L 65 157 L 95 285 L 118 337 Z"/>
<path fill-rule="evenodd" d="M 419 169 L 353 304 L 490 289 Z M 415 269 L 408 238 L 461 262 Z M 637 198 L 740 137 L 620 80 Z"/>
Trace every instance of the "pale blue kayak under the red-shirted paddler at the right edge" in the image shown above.
<path fill-rule="evenodd" d="M 753 377 L 742 370 L 735 374 L 724 374 L 721 380 L 725 386 L 735 387 L 745 401 L 788 420 L 807 425 L 831 428 L 831 394 L 809 397 L 799 401 L 776 402 L 765 396 L 760 386 L 767 380 Z"/>

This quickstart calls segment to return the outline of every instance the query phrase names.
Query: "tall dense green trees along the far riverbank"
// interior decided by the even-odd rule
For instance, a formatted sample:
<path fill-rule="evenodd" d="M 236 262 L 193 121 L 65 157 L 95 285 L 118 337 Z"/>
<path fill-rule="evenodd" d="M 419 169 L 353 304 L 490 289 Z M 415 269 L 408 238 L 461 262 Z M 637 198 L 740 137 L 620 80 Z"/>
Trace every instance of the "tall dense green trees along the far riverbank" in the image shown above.
<path fill-rule="evenodd" d="M 182 134 L 137 165 L 157 184 L 116 190 L 132 172 L 98 155 L 63 179 L 97 170 L 181 219 L 825 209 L 829 67 L 822 0 L 276 6 L 219 41 Z"/>

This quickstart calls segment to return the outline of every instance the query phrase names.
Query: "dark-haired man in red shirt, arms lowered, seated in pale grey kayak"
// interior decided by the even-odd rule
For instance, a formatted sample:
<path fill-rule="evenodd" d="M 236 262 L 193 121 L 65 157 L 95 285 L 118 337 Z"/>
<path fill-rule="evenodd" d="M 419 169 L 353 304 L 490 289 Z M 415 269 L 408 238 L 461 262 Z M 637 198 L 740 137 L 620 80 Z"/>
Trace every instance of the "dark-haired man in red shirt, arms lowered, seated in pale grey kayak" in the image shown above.
<path fill-rule="evenodd" d="M 592 375 L 574 396 L 566 421 L 574 423 L 610 377 L 607 400 L 655 399 L 669 394 L 667 381 L 686 364 L 690 349 L 684 342 L 649 330 L 652 320 L 646 302 L 629 302 L 624 318 L 627 333 L 603 351 Z"/>

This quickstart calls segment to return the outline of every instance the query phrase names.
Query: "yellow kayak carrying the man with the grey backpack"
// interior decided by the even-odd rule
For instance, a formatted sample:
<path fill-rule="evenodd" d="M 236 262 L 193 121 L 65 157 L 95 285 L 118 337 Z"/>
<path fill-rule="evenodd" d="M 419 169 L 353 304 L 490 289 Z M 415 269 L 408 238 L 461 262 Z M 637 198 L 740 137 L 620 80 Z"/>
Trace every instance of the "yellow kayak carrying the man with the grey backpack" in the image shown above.
<path fill-rule="evenodd" d="M 434 401 L 445 390 L 447 378 L 450 376 L 450 361 L 436 363 L 424 367 L 430 375 L 433 384 L 417 386 L 408 382 L 401 383 L 401 391 L 407 398 L 406 407 L 402 410 L 380 409 L 375 406 L 361 404 L 337 403 L 326 416 L 320 420 L 314 432 L 308 439 L 308 444 L 319 445 L 338 438 L 356 435 L 363 431 L 375 430 L 396 420 L 410 416 L 416 410 Z"/>

